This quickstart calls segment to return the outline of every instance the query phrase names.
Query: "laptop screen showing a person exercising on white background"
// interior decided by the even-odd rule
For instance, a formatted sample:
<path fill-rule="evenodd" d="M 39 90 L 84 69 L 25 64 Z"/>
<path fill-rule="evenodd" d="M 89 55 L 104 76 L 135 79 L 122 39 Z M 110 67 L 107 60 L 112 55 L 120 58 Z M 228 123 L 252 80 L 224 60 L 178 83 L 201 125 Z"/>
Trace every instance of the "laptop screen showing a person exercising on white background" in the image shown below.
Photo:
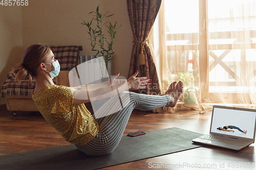
<path fill-rule="evenodd" d="M 210 132 L 253 139 L 256 112 L 252 109 L 251 111 L 238 109 L 241 108 L 215 107 L 212 111 Z M 224 130 L 218 130 L 219 127 L 222 129 L 226 127 L 228 131 L 224 131 L 225 128 Z M 244 131 L 247 131 L 247 133 L 243 133 Z"/>

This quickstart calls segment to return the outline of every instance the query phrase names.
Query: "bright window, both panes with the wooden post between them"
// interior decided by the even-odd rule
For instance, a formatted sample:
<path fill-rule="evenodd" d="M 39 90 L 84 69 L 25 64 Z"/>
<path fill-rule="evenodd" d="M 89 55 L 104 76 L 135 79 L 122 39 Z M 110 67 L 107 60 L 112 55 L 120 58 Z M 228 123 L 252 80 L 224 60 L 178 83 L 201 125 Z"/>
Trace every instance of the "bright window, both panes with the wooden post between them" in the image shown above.
<path fill-rule="evenodd" d="M 209 92 L 256 92 L 255 9 L 253 0 L 165 0 L 166 57 L 194 74 L 187 61 L 200 58 Z"/>

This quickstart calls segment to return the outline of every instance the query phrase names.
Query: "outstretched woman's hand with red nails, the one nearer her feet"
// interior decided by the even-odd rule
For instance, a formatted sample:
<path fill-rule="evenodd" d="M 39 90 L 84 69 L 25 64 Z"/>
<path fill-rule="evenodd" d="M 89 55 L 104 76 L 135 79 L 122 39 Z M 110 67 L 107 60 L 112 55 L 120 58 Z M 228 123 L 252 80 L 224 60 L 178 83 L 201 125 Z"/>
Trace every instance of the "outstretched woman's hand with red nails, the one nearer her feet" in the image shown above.
<path fill-rule="evenodd" d="M 127 80 L 129 90 L 138 90 L 146 88 L 146 85 L 151 82 L 149 77 L 136 78 L 138 75 L 138 70 L 133 76 Z"/>

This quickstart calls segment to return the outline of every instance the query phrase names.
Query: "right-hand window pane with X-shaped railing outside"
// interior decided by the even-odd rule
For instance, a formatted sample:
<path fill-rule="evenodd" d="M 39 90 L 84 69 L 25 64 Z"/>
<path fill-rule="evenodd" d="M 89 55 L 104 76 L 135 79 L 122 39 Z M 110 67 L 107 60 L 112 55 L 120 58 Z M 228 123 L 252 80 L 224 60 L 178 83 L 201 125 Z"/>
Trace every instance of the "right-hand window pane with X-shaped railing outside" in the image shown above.
<path fill-rule="evenodd" d="M 208 0 L 208 53 L 210 92 L 256 92 L 256 15 L 254 1 Z M 242 77 L 250 83 L 240 83 Z M 216 87 L 218 84 L 219 88 Z M 220 88 L 221 87 L 221 88 Z"/>

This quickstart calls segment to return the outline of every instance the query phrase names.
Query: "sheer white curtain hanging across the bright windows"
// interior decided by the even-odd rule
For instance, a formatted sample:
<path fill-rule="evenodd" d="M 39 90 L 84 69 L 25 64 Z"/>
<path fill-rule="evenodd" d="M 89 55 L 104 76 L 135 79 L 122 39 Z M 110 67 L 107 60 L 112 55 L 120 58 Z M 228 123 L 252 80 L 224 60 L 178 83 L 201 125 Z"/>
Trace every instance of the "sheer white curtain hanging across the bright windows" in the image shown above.
<path fill-rule="evenodd" d="M 162 92 L 173 81 L 185 83 L 178 105 L 166 109 L 255 108 L 255 2 L 202 1 L 205 6 L 198 0 L 162 1 L 150 34 Z"/>

